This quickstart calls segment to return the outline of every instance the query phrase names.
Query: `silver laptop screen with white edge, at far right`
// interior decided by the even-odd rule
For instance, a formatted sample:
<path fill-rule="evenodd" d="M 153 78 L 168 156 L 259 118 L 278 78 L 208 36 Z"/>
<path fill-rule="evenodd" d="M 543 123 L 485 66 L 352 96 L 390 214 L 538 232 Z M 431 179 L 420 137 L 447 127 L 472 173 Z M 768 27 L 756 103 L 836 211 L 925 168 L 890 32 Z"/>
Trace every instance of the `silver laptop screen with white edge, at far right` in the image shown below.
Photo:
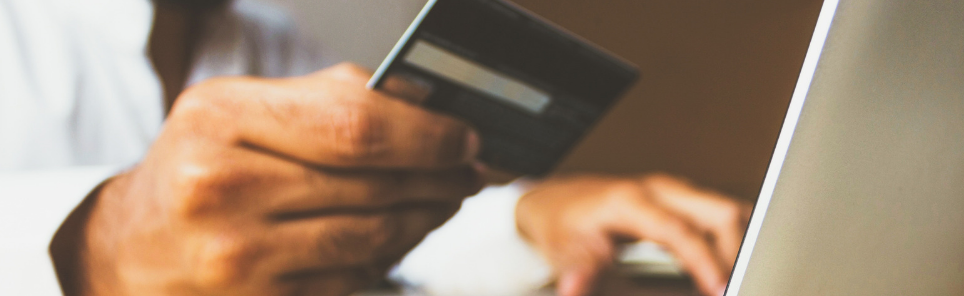
<path fill-rule="evenodd" d="M 726 295 L 964 295 L 964 1 L 816 28 Z"/>

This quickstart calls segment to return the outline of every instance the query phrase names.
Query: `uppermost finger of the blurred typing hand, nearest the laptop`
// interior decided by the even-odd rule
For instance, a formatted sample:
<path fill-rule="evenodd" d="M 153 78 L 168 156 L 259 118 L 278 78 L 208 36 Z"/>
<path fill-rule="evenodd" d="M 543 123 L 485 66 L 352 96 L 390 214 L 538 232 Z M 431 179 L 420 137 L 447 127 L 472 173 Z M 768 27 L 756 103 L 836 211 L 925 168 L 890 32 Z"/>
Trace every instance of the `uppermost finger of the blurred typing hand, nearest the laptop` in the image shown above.
<path fill-rule="evenodd" d="M 718 256 L 727 269 L 733 267 L 749 219 L 749 205 L 668 176 L 651 176 L 644 183 L 658 203 L 709 232 Z"/>

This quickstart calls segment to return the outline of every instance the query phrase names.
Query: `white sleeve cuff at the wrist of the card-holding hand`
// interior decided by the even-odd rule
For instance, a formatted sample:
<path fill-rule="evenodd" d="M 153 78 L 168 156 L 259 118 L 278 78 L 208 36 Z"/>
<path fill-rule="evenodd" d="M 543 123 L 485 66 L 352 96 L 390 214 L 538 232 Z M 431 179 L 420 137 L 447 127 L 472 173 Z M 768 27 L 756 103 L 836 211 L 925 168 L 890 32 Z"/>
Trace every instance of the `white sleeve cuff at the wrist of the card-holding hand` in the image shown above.
<path fill-rule="evenodd" d="M 0 295 L 61 295 L 50 241 L 116 166 L 0 172 Z"/>

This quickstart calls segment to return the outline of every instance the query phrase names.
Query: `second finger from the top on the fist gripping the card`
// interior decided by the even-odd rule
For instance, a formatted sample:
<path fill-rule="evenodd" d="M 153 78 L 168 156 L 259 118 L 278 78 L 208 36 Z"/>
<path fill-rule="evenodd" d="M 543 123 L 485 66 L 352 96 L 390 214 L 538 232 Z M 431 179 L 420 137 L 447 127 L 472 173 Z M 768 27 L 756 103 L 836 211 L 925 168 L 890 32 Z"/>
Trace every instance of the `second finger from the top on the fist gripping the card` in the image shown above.
<path fill-rule="evenodd" d="M 280 220 L 343 209 L 385 209 L 404 203 L 460 203 L 482 181 L 469 167 L 441 171 L 345 171 L 306 167 L 244 148 L 205 150 L 177 177 L 191 198 L 177 209 L 191 216 L 252 213 Z"/>

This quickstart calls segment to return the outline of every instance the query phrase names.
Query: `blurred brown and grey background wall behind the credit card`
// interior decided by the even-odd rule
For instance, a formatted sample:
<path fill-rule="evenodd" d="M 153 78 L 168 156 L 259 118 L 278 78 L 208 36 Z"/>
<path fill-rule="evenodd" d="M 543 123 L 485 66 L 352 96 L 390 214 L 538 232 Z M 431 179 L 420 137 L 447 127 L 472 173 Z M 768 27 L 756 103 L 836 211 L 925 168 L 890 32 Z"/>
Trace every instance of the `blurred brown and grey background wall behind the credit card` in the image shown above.
<path fill-rule="evenodd" d="M 425 0 L 264 0 L 376 67 Z M 663 171 L 756 198 L 822 1 L 516 0 L 640 66 L 560 172 Z"/>

